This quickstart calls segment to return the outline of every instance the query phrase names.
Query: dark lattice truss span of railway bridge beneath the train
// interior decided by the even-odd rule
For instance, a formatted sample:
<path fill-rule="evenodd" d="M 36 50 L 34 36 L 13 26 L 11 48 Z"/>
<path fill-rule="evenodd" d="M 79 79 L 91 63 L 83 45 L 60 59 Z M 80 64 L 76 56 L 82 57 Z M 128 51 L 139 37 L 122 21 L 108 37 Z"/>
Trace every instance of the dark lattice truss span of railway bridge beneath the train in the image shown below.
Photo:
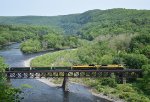
<path fill-rule="evenodd" d="M 111 77 L 112 74 L 117 77 L 133 78 L 139 77 L 141 69 L 124 69 L 124 70 L 19 70 L 6 71 L 9 78 L 47 78 L 47 77 Z"/>

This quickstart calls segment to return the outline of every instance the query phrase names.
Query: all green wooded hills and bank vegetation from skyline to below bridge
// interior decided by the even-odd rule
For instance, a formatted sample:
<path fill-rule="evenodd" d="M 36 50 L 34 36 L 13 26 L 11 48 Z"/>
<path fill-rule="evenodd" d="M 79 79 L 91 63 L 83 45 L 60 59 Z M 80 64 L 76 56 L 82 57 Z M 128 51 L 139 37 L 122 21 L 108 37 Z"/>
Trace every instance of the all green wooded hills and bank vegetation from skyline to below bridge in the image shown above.
<path fill-rule="evenodd" d="M 24 41 L 21 44 L 24 53 L 76 48 L 37 57 L 31 66 L 124 64 L 126 68 L 143 69 L 143 78 L 127 80 L 124 85 L 117 84 L 113 75 L 108 79 L 83 80 L 105 95 L 128 102 L 150 101 L 149 10 L 110 9 L 56 17 L 0 17 L 0 22 L 3 40 L 0 45 Z"/>

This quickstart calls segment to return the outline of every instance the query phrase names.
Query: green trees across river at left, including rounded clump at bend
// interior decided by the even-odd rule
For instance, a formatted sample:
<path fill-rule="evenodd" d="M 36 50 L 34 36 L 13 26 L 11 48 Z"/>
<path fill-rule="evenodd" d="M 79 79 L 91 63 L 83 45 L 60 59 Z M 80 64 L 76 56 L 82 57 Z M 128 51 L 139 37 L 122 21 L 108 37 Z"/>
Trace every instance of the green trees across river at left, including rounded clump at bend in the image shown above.
<path fill-rule="evenodd" d="M 56 28 L 35 25 L 0 25 L 0 47 L 22 41 L 21 50 L 25 53 L 80 46 L 78 37 L 63 35 L 62 31 Z"/>

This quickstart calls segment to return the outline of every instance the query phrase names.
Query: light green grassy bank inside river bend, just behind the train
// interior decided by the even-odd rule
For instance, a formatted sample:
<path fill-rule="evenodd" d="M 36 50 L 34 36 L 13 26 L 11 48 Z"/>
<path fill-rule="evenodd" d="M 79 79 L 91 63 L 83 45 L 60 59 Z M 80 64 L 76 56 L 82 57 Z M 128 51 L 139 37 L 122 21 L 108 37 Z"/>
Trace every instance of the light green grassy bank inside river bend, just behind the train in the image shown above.
<path fill-rule="evenodd" d="M 31 66 L 49 67 L 49 66 L 72 66 L 78 62 L 76 56 L 77 50 L 65 50 L 54 53 L 48 53 L 39 56 L 31 61 Z"/>

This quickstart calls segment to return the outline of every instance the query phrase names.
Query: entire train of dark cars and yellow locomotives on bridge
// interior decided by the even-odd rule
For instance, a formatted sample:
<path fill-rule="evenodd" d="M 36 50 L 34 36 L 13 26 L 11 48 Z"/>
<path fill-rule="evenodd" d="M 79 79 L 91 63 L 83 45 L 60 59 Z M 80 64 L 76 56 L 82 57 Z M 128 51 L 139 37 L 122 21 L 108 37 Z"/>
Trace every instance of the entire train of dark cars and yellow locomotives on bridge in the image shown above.
<path fill-rule="evenodd" d="M 7 71 L 28 71 L 28 70 L 123 70 L 124 66 L 121 64 L 110 64 L 110 65 L 74 65 L 70 67 L 11 67 Z"/>

